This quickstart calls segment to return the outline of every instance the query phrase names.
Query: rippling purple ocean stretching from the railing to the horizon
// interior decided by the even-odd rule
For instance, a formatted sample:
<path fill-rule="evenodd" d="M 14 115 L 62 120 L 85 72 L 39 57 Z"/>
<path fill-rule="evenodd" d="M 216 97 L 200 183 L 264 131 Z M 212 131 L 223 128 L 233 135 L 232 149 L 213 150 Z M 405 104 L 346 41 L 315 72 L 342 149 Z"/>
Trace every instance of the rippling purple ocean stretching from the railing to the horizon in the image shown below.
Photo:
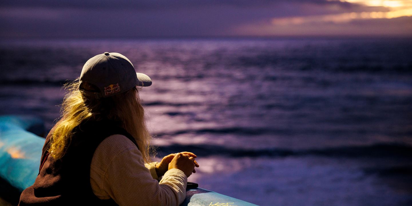
<path fill-rule="evenodd" d="M 49 131 L 62 85 L 104 52 L 152 78 L 155 160 L 194 152 L 199 187 L 262 206 L 412 205 L 412 39 L 2 40 L 0 115 Z"/>

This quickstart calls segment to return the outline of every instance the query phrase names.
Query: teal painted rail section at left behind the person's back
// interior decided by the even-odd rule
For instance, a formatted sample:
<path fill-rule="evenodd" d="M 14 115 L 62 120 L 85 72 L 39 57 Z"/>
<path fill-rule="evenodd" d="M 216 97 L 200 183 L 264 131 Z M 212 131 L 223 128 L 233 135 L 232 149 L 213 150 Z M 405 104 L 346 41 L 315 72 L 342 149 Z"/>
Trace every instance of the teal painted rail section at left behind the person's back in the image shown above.
<path fill-rule="evenodd" d="M 20 191 L 33 185 L 39 173 L 44 138 L 26 131 L 33 126 L 42 127 L 42 121 L 26 116 L 0 117 L 0 176 Z"/>

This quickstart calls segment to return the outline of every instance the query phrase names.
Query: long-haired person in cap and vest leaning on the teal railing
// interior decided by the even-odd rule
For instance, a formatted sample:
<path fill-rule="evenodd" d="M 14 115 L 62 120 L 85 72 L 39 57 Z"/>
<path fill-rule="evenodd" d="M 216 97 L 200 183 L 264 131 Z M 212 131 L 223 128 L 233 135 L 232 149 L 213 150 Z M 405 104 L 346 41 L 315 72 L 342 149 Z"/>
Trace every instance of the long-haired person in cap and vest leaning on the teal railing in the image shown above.
<path fill-rule="evenodd" d="M 151 84 L 122 54 L 89 59 L 80 77 L 65 85 L 61 118 L 46 137 L 39 174 L 19 206 L 180 205 L 187 177 L 199 164 L 192 152 L 150 161 L 139 91 Z"/>

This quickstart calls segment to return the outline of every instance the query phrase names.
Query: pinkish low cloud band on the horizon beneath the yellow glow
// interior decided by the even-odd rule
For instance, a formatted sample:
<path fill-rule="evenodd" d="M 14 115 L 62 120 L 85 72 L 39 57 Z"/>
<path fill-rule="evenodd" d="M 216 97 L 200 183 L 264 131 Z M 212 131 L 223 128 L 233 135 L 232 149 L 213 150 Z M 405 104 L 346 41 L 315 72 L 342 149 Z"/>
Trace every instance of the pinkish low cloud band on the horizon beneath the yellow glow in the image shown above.
<path fill-rule="evenodd" d="M 313 19 L 312 19 L 313 20 Z M 261 22 L 235 28 L 240 36 L 412 36 L 412 16 L 350 21 L 304 21 L 293 24 Z"/>

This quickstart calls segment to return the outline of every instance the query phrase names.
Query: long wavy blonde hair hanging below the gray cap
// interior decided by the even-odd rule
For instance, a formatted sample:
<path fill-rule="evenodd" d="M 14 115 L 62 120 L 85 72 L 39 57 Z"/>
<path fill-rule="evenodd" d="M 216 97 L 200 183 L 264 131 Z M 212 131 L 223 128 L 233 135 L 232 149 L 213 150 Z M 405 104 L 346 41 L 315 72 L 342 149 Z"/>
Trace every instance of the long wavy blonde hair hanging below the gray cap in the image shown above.
<path fill-rule="evenodd" d="M 83 85 L 86 83 L 86 85 Z M 82 88 L 90 88 L 93 85 L 82 83 Z M 54 125 L 50 137 L 50 155 L 60 159 L 66 153 L 67 147 L 73 136 L 73 129 L 87 119 L 110 119 L 122 122 L 135 139 L 146 163 L 150 162 L 150 155 L 154 150 L 150 146 L 150 133 L 144 119 L 144 110 L 140 104 L 139 89 L 135 87 L 129 91 L 101 99 L 87 98 L 79 90 L 79 78 L 66 83 L 67 90 L 63 98 L 61 118 Z"/>

